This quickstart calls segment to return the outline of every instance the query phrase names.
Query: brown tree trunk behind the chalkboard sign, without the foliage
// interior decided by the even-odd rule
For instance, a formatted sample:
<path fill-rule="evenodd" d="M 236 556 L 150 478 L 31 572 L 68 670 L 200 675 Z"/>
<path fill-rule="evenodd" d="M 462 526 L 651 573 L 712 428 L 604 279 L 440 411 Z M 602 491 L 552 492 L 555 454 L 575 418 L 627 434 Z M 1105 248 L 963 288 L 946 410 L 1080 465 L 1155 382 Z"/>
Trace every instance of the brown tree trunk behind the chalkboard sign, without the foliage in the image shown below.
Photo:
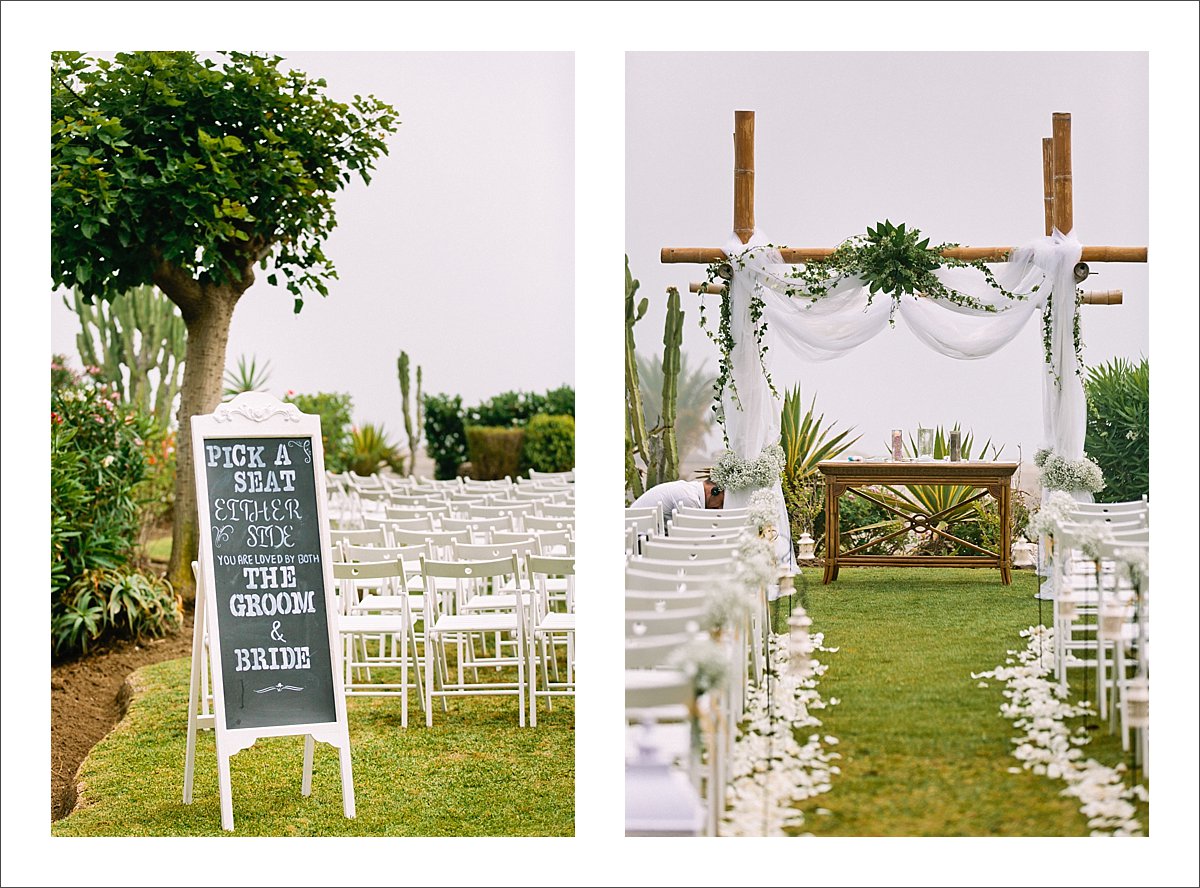
<path fill-rule="evenodd" d="M 174 276 L 173 276 L 174 277 Z M 253 277 L 251 276 L 251 281 Z M 198 283 L 178 278 L 157 281 L 184 314 L 187 347 L 179 400 L 175 438 L 175 514 L 172 522 L 170 564 L 167 578 L 175 590 L 196 596 L 192 562 L 199 546 L 196 511 L 196 475 L 192 462 L 192 416 L 211 413 L 221 402 L 221 386 L 233 310 L 250 281 L 235 284 Z"/>

